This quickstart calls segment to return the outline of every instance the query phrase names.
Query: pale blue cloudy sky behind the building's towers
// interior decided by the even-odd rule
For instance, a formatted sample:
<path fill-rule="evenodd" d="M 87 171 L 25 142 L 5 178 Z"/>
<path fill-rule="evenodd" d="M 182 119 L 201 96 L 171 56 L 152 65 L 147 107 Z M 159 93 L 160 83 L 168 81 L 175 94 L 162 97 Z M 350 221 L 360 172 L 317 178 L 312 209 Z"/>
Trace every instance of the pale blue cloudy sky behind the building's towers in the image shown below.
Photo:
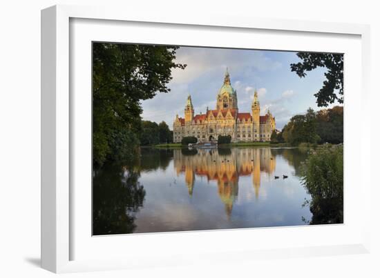
<path fill-rule="evenodd" d="M 185 63 L 184 70 L 173 69 L 167 85 L 171 92 L 142 101 L 143 120 L 165 121 L 173 129 L 175 115 L 184 117 L 184 105 L 191 95 L 195 114 L 216 109 L 216 95 L 228 67 L 231 86 L 238 95 L 239 112 L 251 112 L 255 88 L 258 90 L 260 115 L 269 108 L 281 130 L 289 119 L 304 114 L 307 108 L 320 110 L 314 94 L 323 86 L 324 68 L 316 68 L 300 78 L 290 64 L 301 61 L 296 52 L 240 50 L 227 48 L 180 47 L 175 62 Z"/>

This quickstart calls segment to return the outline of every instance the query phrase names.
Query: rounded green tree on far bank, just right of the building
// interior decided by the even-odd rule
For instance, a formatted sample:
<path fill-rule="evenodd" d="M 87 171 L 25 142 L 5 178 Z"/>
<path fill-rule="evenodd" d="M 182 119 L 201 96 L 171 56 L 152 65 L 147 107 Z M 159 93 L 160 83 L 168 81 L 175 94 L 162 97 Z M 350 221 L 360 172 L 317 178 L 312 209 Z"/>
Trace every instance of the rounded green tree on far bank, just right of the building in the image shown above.
<path fill-rule="evenodd" d="M 282 130 L 283 139 L 293 145 L 300 143 L 317 143 L 320 141 L 316 133 L 316 113 L 312 108 L 307 110 L 306 115 L 296 115 L 290 119 Z"/>

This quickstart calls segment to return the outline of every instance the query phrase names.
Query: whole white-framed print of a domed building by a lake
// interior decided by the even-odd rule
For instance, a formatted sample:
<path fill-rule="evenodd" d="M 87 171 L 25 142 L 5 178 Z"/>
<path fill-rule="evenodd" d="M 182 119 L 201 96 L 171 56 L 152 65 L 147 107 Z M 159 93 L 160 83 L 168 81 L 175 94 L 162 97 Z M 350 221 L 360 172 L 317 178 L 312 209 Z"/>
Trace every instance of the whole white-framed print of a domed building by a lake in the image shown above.
<path fill-rule="evenodd" d="M 368 252 L 368 34 L 43 10 L 42 266 Z"/>

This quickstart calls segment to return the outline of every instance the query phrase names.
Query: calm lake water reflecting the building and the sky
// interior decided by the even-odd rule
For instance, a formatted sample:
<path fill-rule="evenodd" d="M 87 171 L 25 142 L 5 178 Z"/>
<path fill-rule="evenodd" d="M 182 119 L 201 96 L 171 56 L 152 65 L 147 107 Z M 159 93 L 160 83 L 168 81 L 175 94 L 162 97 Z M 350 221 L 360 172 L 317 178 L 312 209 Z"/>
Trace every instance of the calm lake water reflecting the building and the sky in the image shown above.
<path fill-rule="evenodd" d="M 292 148 L 144 148 L 93 180 L 93 234 L 305 225 L 310 199 Z M 287 179 L 283 179 L 287 175 Z M 278 176 L 278 179 L 275 179 Z"/>

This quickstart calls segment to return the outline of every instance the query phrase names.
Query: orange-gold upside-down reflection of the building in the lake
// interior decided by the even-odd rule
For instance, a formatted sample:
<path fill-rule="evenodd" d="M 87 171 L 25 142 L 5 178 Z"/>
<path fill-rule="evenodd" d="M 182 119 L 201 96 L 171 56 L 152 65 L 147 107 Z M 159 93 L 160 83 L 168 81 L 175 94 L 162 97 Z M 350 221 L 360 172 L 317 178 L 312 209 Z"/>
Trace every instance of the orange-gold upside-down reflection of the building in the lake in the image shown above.
<path fill-rule="evenodd" d="M 193 195 L 197 177 L 216 181 L 218 195 L 225 204 L 227 217 L 238 197 L 239 177 L 251 175 L 256 199 L 260 193 L 260 175 L 272 174 L 276 168 L 276 157 L 270 148 L 218 148 L 212 150 L 174 150 L 174 168 Z"/>

